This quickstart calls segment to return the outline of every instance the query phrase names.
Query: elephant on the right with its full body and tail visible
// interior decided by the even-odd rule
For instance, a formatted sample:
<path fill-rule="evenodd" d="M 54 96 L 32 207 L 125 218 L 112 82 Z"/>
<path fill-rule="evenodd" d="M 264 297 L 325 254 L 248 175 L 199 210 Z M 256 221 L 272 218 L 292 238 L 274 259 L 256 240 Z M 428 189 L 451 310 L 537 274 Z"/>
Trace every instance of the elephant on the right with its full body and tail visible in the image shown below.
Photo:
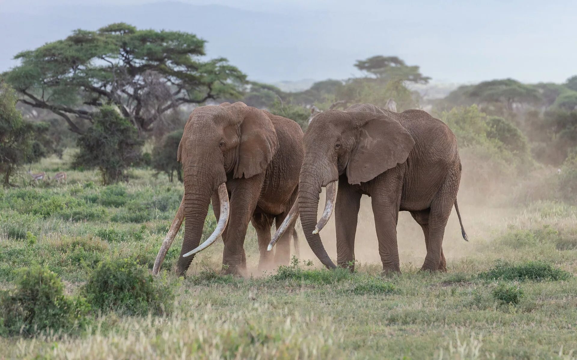
<path fill-rule="evenodd" d="M 335 212 L 337 264 L 354 270 L 354 245 L 361 196 L 370 196 L 383 274 L 400 272 L 396 225 L 399 211 L 409 211 L 425 235 L 421 270 L 447 271 L 443 236 L 452 207 L 469 241 L 457 204 L 461 162 L 455 135 L 425 111 L 388 111 L 354 104 L 344 111 L 314 117 L 304 137 L 305 158 L 299 175 L 298 201 L 282 229 L 300 214 L 310 248 L 328 268 L 319 232 Z M 337 185 L 338 184 L 338 185 Z M 326 187 L 323 215 L 317 223 L 321 188 Z M 283 233 L 279 229 L 269 244 Z"/>

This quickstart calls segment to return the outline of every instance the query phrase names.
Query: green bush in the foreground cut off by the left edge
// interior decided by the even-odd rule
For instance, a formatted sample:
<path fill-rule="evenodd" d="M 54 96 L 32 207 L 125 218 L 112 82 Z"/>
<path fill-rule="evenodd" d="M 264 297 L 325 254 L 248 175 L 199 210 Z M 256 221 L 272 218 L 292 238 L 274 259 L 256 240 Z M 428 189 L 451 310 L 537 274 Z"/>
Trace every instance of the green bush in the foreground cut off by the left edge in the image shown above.
<path fill-rule="evenodd" d="M 84 298 L 64 294 L 54 272 L 32 266 L 20 271 L 16 289 L 0 293 L 0 335 L 78 331 L 88 324 L 89 310 Z"/>

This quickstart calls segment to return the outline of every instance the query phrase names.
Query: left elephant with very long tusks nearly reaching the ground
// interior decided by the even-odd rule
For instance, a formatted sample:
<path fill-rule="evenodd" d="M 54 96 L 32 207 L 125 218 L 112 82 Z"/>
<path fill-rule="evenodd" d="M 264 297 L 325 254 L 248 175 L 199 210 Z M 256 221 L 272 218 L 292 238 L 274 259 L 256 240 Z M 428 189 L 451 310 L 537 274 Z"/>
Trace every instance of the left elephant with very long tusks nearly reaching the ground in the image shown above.
<path fill-rule="evenodd" d="M 219 236 L 224 240 L 225 272 L 244 275 L 243 244 L 249 222 L 257 232 L 258 267 L 267 268 L 273 261 L 288 264 L 293 228 L 284 234 L 273 256 L 267 245 L 272 223 L 280 226 L 298 196 L 302 138 L 301 127 L 293 120 L 241 102 L 195 108 L 178 146 L 184 195 L 156 256 L 153 274 L 158 274 L 183 218 L 186 226 L 177 262 L 179 275 L 186 273 L 195 253 Z M 218 224 L 198 246 L 211 201 Z"/>

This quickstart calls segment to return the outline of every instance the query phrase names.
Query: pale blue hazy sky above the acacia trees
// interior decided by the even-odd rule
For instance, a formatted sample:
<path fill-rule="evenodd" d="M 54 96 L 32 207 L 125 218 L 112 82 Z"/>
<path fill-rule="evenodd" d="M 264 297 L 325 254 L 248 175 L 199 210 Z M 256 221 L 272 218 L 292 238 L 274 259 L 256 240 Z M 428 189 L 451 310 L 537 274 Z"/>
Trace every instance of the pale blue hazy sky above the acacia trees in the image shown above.
<path fill-rule="evenodd" d="M 53 12 L 54 9 L 65 12 L 69 8 L 78 9 L 81 5 L 128 5 L 136 8 L 151 2 L 154 1 L 0 0 L 0 16 L 38 15 L 47 8 Z M 168 22 L 170 29 L 192 31 L 207 39 L 209 56 L 227 57 L 249 77 L 262 81 L 346 78 L 355 72 L 352 66 L 355 59 L 377 54 L 398 55 L 410 65 L 421 66 L 422 73 L 440 82 L 473 82 L 504 77 L 526 82 L 562 82 L 577 74 L 575 0 L 181 2 L 248 10 L 254 18 L 262 18 L 263 24 L 271 19 L 279 24 L 288 21 L 282 23 L 283 28 L 269 24 L 270 35 L 266 26 L 258 24 L 260 21 L 254 18 L 250 20 L 254 26 L 246 29 L 246 35 L 242 33 L 244 28 L 226 29 L 230 22 L 218 24 L 219 28 L 231 33 L 230 39 L 209 31 L 209 26 L 197 29 L 193 24 L 186 24 L 186 21 Z M 170 7 L 168 4 L 168 13 Z M 9 13 L 12 15 L 7 15 Z M 131 23 L 138 27 L 167 28 L 167 22 L 160 21 L 160 17 L 160 14 L 148 14 L 139 17 L 137 23 Z M 117 21 L 112 15 L 110 18 L 110 21 L 107 18 L 106 21 Z M 218 16 L 211 21 L 218 22 Z M 64 37 L 72 29 L 83 26 L 78 19 L 70 23 L 73 24 L 70 29 L 55 33 L 58 36 L 62 33 L 61 37 Z M 35 30 L 36 26 L 14 26 L 20 25 L 26 26 L 27 31 L 29 28 Z M 0 31 L 10 30 L 2 29 L 0 24 Z M 42 28 L 38 29 L 38 32 L 42 31 Z M 50 36 L 56 35 L 50 33 Z M 0 49 L 5 51 L 0 50 L 0 71 L 14 65 L 9 60 L 14 56 L 14 51 L 58 39 L 46 39 L 42 34 L 23 37 L 18 41 L 3 37 L 5 35 L 0 37 Z M 249 50 L 243 52 L 239 41 L 246 42 L 247 49 L 252 49 L 255 45 L 251 44 L 251 40 L 257 41 L 261 50 L 266 52 L 264 60 L 263 56 L 256 58 L 248 54 Z M 3 46 L 3 42 L 6 46 Z M 16 47 L 20 47 L 19 50 L 15 50 Z M 276 65 L 279 67 L 276 68 Z"/>

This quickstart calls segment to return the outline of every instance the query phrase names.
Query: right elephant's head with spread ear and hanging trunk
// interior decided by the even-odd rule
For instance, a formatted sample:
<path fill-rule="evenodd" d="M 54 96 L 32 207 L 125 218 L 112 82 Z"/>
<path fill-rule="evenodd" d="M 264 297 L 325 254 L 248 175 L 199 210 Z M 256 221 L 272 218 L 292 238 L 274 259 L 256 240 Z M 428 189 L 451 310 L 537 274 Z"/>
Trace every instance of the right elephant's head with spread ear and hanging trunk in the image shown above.
<path fill-rule="evenodd" d="M 328 268 L 335 265 L 323 247 L 319 231 L 331 217 L 339 176 L 346 174 L 350 184 L 365 183 L 406 161 L 413 149 L 413 138 L 396 116 L 374 105 L 355 104 L 345 111 L 322 112 L 309 124 L 304 137 L 298 211 L 310 248 Z M 317 223 L 322 187 L 327 187 L 327 203 Z"/>

